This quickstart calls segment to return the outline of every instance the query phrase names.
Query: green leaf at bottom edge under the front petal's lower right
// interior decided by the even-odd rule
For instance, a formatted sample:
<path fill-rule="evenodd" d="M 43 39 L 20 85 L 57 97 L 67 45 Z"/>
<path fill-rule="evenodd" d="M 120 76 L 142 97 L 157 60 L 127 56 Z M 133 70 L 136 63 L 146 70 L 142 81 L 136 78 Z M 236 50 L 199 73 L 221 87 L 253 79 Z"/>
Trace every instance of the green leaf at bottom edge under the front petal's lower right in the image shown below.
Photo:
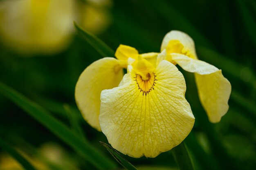
<path fill-rule="evenodd" d="M 173 148 L 172 150 L 175 161 L 177 162 L 180 170 L 193 170 L 193 165 L 189 157 L 186 145 L 184 142 Z"/>

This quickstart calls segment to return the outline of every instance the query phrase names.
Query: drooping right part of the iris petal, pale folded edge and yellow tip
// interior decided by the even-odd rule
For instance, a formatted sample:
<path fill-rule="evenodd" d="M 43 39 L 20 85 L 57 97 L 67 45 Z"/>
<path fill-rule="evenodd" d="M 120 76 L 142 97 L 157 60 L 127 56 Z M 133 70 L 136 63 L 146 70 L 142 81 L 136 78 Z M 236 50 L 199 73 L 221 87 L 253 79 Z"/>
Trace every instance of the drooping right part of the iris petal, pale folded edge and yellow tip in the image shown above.
<path fill-rule="evenodd" d="M 231 85 L 227 78 L 222 75 L 221 70 L 204 61 L 176 53 L 171 56 L 184 70 L 195 73 L 199 98 L 207 112 L 209 121 L 220 122 L 221 117 L 229 109 Z"/>

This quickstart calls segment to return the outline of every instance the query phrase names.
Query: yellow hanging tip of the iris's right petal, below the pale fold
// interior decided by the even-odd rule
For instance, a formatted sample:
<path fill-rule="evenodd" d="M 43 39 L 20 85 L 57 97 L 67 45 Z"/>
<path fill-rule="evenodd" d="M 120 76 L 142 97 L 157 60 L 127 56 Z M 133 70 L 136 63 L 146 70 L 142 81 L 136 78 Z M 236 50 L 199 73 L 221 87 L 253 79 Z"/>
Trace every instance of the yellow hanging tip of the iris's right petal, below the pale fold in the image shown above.
<path fill-rule="evenodd" d="M 222 75 L 221 70 L 206 75 L 195 74 L 195 81 L 209 121 L 220 122 L 221 117 L 229 109 L 228 100 L 231 93 L 229 81 Z"/>

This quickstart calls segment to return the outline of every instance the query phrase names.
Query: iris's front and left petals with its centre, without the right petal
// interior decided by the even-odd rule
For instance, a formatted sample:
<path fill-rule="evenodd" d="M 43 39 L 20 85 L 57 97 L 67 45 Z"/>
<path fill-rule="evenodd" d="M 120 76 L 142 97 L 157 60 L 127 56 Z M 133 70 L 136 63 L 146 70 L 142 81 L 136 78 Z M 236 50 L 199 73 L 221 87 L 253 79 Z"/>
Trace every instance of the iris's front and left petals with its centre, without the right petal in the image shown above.
<path fill-rule="evenodd" d="M 85 120 L 131 157 L 156 157 L 180 144 L 195 118 L 184 77 L 164 60 L 166 51 L 139 54 L 120 45 L 115 56 L 95 61 L 79 77 L 75 98 Z"/>

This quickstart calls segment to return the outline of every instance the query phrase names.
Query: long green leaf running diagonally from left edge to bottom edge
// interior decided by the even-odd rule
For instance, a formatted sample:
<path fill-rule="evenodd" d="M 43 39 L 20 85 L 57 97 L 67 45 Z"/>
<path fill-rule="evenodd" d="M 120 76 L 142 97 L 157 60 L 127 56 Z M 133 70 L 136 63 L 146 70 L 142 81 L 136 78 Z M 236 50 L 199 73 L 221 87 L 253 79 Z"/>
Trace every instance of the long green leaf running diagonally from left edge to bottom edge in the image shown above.
<path fill-rule="evenodd" d="M 49 112 L 32 102 L 25 96 L 14 91 L 7 85 L 0 82 L 0 93 L 16 103 L 21 109 L 27 112 L 31 117 L 40 122 L 49 131 L 54 133 L 66 144 L 71 146 L 77 153 L 79 153 L 88 162 L 101 170 L 108 170 L 116 168 L 116 164 L 108 159 L 103 153 L 94 148 L 90 143 L 80 139 L 62 122 L 50 116 Z"/>

